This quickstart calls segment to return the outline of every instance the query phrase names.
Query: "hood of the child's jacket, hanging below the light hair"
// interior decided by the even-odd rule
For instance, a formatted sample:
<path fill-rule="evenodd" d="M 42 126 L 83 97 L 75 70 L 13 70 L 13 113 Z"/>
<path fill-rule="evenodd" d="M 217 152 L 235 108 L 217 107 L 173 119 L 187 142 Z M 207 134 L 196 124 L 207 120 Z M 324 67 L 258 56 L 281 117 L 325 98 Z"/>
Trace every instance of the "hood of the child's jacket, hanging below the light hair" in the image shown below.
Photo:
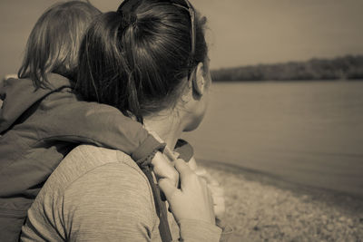
<path fill-rule="evenodd" d="M 0 86 L 0 98 L 3 100 L 0 133 L 9 129 L 35 102 L 56 90 L 71 86 L 71 82 L 59 74 L 50 73 L 47 79 L 49 88 L 38 89 L 35 89 L 30 79 L 10 78 L 4 81 L 4 85 Z"/>

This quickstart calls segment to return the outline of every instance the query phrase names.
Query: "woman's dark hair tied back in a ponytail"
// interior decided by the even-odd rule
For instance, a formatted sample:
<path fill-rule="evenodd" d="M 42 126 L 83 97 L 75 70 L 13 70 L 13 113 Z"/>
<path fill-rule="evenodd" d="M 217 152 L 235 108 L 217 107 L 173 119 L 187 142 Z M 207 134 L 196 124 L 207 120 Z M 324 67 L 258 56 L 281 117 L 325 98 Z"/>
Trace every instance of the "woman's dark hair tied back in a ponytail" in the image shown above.
<path fill-rule="evenodd" d="M 206 18 L 196 13 L 191 56 L 191 15 L 173 2 L 125 0 L 117 12 L 91 24 L 75 87 L 83 99 L 112 105 L 138 121 L 176 103 L 187 84 L 182 79 L 208 50 Z"/>

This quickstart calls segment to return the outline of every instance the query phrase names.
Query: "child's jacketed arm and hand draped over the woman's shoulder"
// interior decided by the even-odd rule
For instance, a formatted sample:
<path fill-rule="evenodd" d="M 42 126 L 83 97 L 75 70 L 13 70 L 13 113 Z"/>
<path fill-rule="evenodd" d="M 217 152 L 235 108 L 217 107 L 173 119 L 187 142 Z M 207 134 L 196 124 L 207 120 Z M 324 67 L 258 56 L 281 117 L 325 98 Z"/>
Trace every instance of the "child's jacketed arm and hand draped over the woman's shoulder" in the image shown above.
<path fill-rule="evenodd" d="M 42 102 L 42 131 L 46 131 L 44 140 L 89 143 L 122 150 L 139 166 L 158 162 L 159 175 L 177 184 L 179 174 L 172 164 L 162 155 L 155 156 L 164 149 L 165 144 L 156 140 L 141 123 L 132 121 L 112 106 L 77 101 L 72 92 L 68 93 L 68 99 L 64 98 L 64 92 L 54 92 L 52 95 L 52 100 L 56 102 Z M 70 102 L 70 99 L 74 101 Z M 48 109 L 52 115 L 46 115 Z"/>

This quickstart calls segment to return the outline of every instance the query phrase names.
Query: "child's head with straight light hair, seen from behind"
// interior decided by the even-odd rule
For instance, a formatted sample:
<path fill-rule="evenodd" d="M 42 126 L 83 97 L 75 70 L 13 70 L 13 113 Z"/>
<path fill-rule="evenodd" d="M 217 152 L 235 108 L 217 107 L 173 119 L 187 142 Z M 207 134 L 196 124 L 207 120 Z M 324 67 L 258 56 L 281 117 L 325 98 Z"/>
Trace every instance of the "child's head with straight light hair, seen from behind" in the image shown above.
<path fill-rule="evenodd" d="M 74 79 L 83 35 L 100 14 L 93 5 L 79 1 L 46 10 L 29 36 L 19 77 L 32 79 L 36 88 L 47 86 L 47 73 Z"/>

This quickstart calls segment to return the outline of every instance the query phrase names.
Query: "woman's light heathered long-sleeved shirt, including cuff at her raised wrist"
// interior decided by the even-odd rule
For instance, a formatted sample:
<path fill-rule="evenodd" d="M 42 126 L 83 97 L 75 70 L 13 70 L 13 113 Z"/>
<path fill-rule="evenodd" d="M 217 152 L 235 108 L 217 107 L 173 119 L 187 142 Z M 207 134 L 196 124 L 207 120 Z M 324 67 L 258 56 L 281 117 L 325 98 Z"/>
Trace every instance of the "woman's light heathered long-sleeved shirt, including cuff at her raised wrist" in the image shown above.
<path fill-rule="evenodd" d="M 41 167 L 38 169 L 42 169 Z M 219 241 L 221 228 L 199 220 L 179 226 L 173 240 Z M 22 229 L 23 241 L 161 241 L 148 179 L 122 151 L 81 145 L 44 184 Z"/>

